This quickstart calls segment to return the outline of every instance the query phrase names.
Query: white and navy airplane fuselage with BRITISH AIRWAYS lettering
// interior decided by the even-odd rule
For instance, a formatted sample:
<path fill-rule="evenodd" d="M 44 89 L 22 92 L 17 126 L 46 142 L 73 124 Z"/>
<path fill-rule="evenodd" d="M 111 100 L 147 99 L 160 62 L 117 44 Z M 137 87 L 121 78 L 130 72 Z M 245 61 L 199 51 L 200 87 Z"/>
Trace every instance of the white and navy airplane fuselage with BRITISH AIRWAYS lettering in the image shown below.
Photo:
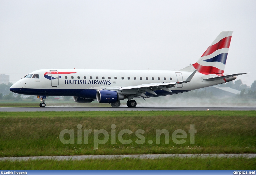
<path fill-rule="evenodd" d="M 96 99 L 98 89 L 120 88 L 151 83 L 185 81 L 191 74 L 187 71 L 156 70 L 84 70 L 84 69 L 42 69 L 33 71 L 28 78 L 16 82 L 10 90 L 24 95 L 76 96 Z M 38 75 L 34 76 L 34 75 Z M 33 77 L 34 76 L 34 77 Z M 205 81 L 203 78 L 216 74 L 197 72 L 188 83 L 169 88 L 172 92 L 156 90 L 157 95 L 146 93 L 147 97 L 158 97 L 187 92 L 194 89 L 225 83 L 225 80 Z"/>

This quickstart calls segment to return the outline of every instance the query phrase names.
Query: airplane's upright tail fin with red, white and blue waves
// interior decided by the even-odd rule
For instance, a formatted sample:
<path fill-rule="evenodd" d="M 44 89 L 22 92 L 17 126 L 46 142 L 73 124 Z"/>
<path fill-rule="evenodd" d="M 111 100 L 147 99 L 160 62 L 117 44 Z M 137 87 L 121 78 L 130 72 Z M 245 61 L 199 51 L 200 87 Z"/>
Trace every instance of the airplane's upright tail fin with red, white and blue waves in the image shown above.
<path fill-rule="evenodd" d="M 180 71 L 194 71 L 202 74 L 223 74 L 227 61 L 233 31 L 222 31 L 199 60 Z"/>

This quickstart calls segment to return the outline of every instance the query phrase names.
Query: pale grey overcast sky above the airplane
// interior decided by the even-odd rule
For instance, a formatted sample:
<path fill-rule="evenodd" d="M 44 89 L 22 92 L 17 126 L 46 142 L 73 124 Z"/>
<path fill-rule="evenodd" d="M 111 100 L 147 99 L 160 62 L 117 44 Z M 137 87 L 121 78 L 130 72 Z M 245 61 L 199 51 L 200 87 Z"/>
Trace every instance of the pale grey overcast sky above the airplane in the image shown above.
<path fill-rule="evenodd" d="M 256 79 L 256 1 L 0 1 L 0 74 L 179 70 L 233 30 L 225 72 Z"/>

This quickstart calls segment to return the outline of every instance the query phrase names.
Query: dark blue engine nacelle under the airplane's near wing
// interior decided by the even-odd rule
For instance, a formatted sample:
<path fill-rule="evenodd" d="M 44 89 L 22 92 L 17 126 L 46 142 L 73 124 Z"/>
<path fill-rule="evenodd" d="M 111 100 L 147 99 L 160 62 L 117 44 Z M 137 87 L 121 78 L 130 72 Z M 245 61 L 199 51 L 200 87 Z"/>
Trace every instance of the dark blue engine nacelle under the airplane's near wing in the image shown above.
<path fill-rule="evenodd" d="M 124 99 L 123 94 L 119 94 L 112 90 L 99 90 L 96 94 L 99 103 L 115 103 Z"/>

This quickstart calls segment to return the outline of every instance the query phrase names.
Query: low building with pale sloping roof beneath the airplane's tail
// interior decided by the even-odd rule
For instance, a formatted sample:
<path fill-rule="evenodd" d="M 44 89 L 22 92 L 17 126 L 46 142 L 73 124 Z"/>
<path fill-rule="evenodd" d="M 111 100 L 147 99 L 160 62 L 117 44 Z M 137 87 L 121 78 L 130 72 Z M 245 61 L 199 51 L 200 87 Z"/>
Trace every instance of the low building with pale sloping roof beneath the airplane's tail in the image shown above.
<path fill-rule="evenodd" d="M 213 86 L 206 89 L 207 92 L 211 92 L 214 96 L 235 96 L 240 94 L 241 91 L 232 89 L 230 87 Z"/>

